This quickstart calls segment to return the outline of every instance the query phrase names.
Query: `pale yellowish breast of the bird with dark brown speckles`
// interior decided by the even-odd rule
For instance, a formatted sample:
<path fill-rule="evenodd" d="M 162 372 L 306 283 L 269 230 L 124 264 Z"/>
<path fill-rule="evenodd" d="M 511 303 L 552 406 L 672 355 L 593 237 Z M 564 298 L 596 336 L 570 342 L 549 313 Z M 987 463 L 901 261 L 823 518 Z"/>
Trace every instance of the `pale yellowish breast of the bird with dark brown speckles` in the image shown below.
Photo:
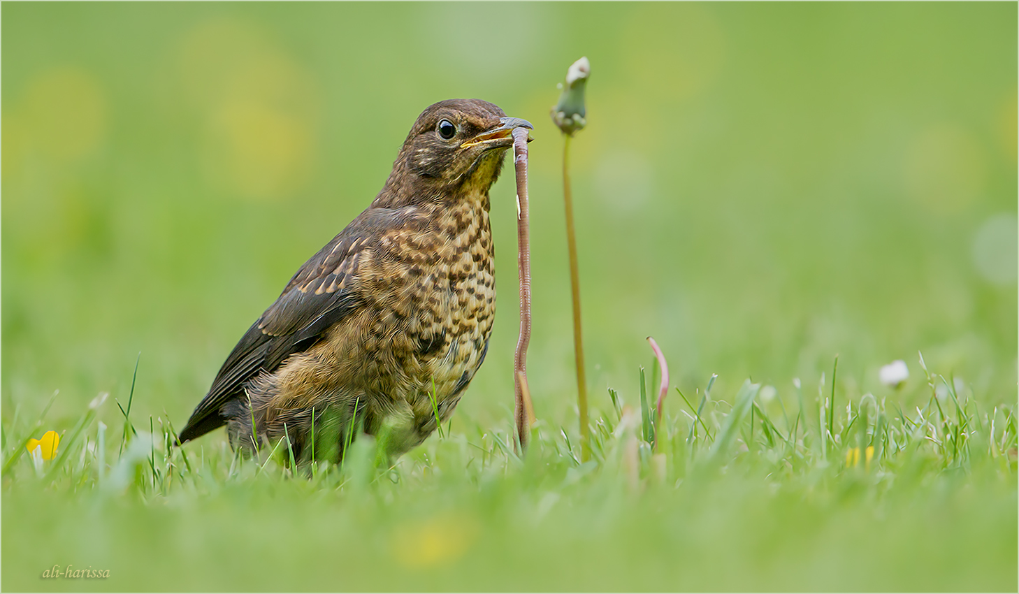
<path fill-rule="evenodd" d="M 378 277 L 366 285 L 385 312 L 377 334 L 395 331 L 389 345 L 397 387 L 415 418 L 430 418 L 434 392 L 445 419 L 481 366 L 495 314 L 495 276 L 487 195 L 422 213 L 428 224 L 393 229 L 380 241 L 386 255 Z M 386 319 L 392 318 L 393 324 Z M 419 419 L 421 420 L 421 419 Z M 427 419 L 425 419 L 427 421 Z"/>

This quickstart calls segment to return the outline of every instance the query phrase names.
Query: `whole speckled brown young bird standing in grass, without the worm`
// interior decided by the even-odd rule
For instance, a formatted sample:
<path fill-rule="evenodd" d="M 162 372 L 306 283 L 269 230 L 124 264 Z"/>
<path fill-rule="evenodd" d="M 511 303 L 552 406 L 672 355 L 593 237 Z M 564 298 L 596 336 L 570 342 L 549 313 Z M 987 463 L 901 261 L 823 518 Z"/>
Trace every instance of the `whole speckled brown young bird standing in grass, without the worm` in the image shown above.
<path fill-rule="evenodd" d="M 424 441 L 488 349 L 488 190 L 517 127 L 533 126 L 477 99 L 422 112 L 382 191 L 252 324 L 180 442 L 226 425 L 233 448 L 285 436 L 299 462 L 338 462 L 359 431 L 389 456 Z"/>

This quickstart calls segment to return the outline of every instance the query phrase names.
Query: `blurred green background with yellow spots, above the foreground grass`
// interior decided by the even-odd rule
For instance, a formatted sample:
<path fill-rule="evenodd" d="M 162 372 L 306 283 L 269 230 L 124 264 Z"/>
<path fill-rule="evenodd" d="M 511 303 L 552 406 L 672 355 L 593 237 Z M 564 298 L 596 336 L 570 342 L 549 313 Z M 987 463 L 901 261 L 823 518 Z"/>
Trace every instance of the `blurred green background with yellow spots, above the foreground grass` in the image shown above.
<path fill-rule="evenodd" d="M 572 172 L 589 391 L 746 377 L 891 393 L 917 350 L 980 401 L 1017 367 L 1014 3 L 5 3 L 2 404 L 102 391 L 179 427 L 292 272 L 381 188 L 429 104 L 535 124 L 540 418 L 575 398 L 549 118 L 586 55 Z M 498 315 L 458 415 L 507 425 L 514 186 L 492 192 Z M 906 393 L 910 393 L 908 390 Z M 675 406 L 672 400 L 669 407 Z M 135 415 L 135 413 L 132 413 Z M 115 421 L 107 407 L 102 417 Z M 453 426 L 457 426 L 453 418 Z M 207 440 L 221 440 L 216 435 Z M 4 534 L 10 542 L 11 535 Z"/>

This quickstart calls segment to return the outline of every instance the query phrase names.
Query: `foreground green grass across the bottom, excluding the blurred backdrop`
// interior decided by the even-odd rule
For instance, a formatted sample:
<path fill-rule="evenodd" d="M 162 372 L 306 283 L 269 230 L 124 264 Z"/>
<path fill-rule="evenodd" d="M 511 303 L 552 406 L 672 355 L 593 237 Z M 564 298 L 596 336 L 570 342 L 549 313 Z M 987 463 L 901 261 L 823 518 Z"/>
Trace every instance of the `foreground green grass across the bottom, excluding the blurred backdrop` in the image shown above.
<path fill-rule="evenodd" d="M 365 436 L 297 476 L 221 438 L 172 447 L 163 418 L 103 444 L 94 409 L 37 470 L 23 436 L 46 424 L 22 418 L 3 425 L 4 564 L 22 569 L 4 588 L 1012 590 L 1015 408 L 926 382 L 902 411 L 748 380 L 667 408 L 656 454 L 624 390 L 586 464 L 576 429 L 539 421 L 522 460 L 508 421 L 461 416 L 391 469 Z M 71 561 L 111 577 L 40 579 Z"/>

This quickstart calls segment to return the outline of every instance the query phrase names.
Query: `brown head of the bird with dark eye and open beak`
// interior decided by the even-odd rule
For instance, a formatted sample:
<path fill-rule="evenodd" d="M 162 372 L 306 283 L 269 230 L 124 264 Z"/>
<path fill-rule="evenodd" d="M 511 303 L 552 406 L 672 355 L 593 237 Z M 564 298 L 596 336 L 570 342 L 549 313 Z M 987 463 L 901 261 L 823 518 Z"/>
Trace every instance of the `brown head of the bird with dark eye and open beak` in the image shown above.
<path fill-rule="evenodd" d="M 433 202 L 464 192 L 487 194 L 518 127 L 534 126 L 506 117 L 487 101 L 450 99 L 431 105 L 404 141 L 383 194 L 407 195 L 405 200 L 389 197 L 397 203 L 409 199 Z"/>

